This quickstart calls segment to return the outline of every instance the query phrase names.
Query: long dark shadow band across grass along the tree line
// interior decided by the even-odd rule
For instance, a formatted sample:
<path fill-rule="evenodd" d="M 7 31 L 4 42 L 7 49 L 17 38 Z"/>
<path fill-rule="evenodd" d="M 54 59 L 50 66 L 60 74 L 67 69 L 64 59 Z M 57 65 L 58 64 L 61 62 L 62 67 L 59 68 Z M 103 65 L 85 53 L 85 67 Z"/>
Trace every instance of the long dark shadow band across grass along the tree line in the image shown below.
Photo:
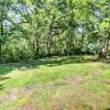
<path fill-rule="evenodd" d="M 40 66 L 59 66 L 65 64 L 79 64 L 79 63 L 90 63 L 97 62 L 96 57 L 84 57 L 84 56 L 65 56 L 65 57 L 48 57 L 45 59 L 30 61 L 30 62 L 20 62 L 20 63 L 9 63 L 0 64 L 0 75 L 6 75 L 12 70 L 28 70 L 40 68 Z"/>

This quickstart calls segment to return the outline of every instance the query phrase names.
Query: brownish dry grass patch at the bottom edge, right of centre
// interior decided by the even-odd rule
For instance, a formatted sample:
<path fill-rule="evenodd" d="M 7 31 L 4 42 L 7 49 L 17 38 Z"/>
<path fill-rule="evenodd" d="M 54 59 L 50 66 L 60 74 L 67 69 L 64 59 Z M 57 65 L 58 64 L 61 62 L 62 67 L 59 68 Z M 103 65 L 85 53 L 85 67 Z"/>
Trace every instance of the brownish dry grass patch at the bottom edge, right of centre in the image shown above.
<path fill-rule="evenodd" d="M 92 110 L 92 106 L 82 102 L 74 102 L 69 97 L 53 99 L 51 110 Z"/>

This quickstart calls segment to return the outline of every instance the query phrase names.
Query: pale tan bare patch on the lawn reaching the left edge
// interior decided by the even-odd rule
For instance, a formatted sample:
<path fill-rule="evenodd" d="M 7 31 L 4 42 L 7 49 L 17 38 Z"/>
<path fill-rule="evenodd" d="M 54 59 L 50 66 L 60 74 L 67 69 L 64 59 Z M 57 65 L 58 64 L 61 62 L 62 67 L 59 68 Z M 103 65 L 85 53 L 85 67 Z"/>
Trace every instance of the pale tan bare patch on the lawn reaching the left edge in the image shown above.
<path fill-rule="evenodd" d="M 24 96 L 32 96 L 33 90 L 35 88 L 37 89 L 46 89 L 46 88 L 51 88 L 53 86 L 52 82 L 48 84 L 35 84 L 35 85 L 30 85 L 26 87 L 22 87 L 22 88 L 10 88 L 10 90 L 0 96 L 0 101 L 3 103 L 8 103 L 10 101 L 15 101 L 18 100 L 20 95 L 24 95 Z"/>

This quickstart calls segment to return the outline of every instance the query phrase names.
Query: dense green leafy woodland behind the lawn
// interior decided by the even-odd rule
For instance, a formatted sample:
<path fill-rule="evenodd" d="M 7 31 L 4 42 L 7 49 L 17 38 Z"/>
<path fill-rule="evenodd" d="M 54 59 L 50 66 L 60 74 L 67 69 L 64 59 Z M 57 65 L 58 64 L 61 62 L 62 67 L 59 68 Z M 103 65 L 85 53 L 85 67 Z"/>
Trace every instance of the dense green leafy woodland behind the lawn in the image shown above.
<path fill-rule="evenodd" d="M 0 62 L 109 53 L 110 0 L 0 0 Z"/>

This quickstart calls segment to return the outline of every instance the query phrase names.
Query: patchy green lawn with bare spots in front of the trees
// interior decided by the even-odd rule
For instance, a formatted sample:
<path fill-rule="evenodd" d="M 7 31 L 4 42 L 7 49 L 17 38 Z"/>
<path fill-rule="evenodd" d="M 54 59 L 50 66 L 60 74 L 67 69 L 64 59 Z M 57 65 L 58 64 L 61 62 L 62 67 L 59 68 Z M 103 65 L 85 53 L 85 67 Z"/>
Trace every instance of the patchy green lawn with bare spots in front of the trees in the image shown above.
<path fill-rule="evenodd" d="M 110 110 L 110 64 L 94 56 L 0 64 L 0 110 Z"/>

